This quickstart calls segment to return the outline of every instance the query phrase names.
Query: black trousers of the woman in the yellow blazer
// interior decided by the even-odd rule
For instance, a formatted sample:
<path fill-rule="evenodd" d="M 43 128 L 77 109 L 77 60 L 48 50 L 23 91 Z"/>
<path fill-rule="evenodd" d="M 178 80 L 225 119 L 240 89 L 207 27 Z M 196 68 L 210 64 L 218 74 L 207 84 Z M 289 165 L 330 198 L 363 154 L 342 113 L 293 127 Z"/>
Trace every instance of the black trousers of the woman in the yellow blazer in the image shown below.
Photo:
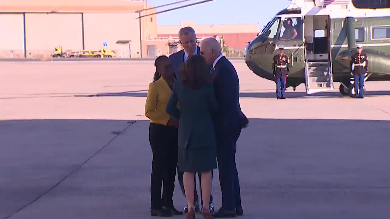
<path fill-rule="evenodd" d="M 176 166 L 179 148 L 177 147 L 177 128 L 151 123 L 149 142 L 152 147 L 152 174 L 150 183 L 151 210 L 173 206 Z M 163 198 L 161 199 L 161 187 Z"/>

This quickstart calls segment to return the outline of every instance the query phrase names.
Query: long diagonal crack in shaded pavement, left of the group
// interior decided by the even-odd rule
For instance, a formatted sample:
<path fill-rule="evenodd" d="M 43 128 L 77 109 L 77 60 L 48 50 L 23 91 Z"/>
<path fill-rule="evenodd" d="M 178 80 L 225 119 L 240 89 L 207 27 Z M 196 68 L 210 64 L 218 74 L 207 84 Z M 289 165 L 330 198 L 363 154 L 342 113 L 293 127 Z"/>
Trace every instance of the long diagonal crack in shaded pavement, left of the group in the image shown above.
<path fill-rule="evenodd" d="M 130 121 L 128 122 L 129 125 L 123 129 L 122 131 L 120 132 L 116 132 L 115 133 L 115 136 L 110 140 L 108 141 L 108 143 L 106 143 L 106 145 L 104 145 L 102 148 L 100 148 L 99 150 L 97 150 L 94 154 L 92 154 L 87 160 L 85 160 L 82 164 L 80 164 L 78 167 L 76 167 L 74 170 L 72 170 L 70 173 L 68 173 L 64 178 L 62 178 L 59 182 L 57 182 L 57 184 L 53 185 L 52 187 L 50 187 L 47 191 L 45 191 L 44 193 L 42 193 L 40 196 L 38 196 L 36 199 L 30 201 L 29 203 L 27 203 L 25 206 L 19 208 L 18 210 L 16 210 L 15 212 L 12 212 L 10 215 L 8 215 L 7 217 L 4 217 L 4 219 L 8 219 L 10 217 L 12 217 L 14 214 L 20 212 L 21 210 L 27 208 L 29 205 L 31 205 L 32 203 L 34 203 L 35 201 L 38 201 L 40 198 L 42 198 L 45 194 L 49 193 L 51 190 L 53 190 L 55 187 L 57 187 L 57 185 L 61 184 L 61 182 L 64 182 L 64 180 L 66 180 L 66 178 L 68 178 L 70 175 L 72 175 L 72 173 L 76 172 L 78 169 L 80 169 L 84 164 L 86 164 L 90 159 L 92 159 L 92 157 L 94 157 L 95 155 L 99 154 L 99 152 L 101 152 L 104 148 L 106 148 L 108 145 L 110 145 L 110 143 L 115 140 L 115 138 L 117 138 L 120 134 L 122 134 L 123 132 L 125 132 L 129 127 L 131 127 L 131 125 L 135 124 L 137 122 L 137 120 L 133 120 L 133 121 Z"/>

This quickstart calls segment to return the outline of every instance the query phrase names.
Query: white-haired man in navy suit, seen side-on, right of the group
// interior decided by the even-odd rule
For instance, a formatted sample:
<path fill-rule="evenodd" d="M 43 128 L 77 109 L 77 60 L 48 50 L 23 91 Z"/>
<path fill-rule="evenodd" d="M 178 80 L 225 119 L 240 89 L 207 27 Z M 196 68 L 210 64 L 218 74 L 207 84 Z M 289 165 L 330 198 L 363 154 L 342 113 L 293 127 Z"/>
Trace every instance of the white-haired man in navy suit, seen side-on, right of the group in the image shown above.
<path fill-rule="evenodd" d="M 200 53 L 207 64 L 212 65 L 211 75 L 218 101 L 214 117 L 217 140 L 216 155 L 222 191 L 222 207 L 214 217 L 243 215 L 238 171 L 236 168 L 236 142 L 248 120 L 239 104 L 239 79 L 234 66 L 222 55 L 222 48 L 215 38 L 200 43 Z"/>

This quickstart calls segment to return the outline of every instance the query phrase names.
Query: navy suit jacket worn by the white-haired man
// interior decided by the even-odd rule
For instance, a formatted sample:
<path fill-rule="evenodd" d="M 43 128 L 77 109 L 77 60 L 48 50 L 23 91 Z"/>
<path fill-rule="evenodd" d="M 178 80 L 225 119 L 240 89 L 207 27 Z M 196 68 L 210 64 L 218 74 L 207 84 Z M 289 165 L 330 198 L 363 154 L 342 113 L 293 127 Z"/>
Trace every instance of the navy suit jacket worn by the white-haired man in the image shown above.
<path fill-rule="evenodd" d="M 218 60 L 213 71 L 214 92 L 219 106 L 214 117 L 215 134 L 219 140 L 236 142 L 245 124 L 244 120 L 247 121 L 239 103 L 238 75 L 225 57 Z"/>

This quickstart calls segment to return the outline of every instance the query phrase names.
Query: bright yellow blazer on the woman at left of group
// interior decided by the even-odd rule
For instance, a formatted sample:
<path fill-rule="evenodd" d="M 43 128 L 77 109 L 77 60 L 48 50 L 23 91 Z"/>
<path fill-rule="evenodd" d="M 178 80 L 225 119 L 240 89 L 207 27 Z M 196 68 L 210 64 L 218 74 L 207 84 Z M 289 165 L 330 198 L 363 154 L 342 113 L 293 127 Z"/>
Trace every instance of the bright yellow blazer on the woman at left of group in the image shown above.
<path fill-rule="evenodd" d="M 167 125 L 168 113 L 165 112 L 168 99 L 172 93 L 167 81 L 163 77 L 149 84 L 145 103 L 145 116 L 151 123 Z M 179 107 L 179 104 L 177 104 Z"/>

